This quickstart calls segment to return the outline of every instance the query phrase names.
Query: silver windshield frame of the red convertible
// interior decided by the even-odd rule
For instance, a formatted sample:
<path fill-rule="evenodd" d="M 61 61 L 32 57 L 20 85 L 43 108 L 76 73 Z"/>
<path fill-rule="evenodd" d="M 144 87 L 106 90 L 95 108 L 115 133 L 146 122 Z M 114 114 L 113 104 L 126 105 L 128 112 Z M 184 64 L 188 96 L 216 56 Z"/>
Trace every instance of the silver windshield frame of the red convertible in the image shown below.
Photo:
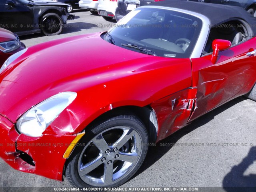
<path fill-rule="evenodd" d="M 192 12 L 192 11 L 188 11 L 188 10 L 184 10 L 184 9 L 172 8 L 172 7 L 162 7 L 162 6 L 142 6 L 142 7 L 140 7 L 140 9 L 142 9 L 142 8 L 158 8 L 158 9 L 172 10 L 172 11 L 177 11 L 177 12 L 181 12 L 181 13 L 186 13 L 186 14 L 192 15 L 192 16 L 197 17 L 200 20 L 202 20 L 202 23 L 203 23 L 202 29 L 198 36 L 198 40 L 196 41 L 196 45 L 194 46 L 194 49 L 190 55 L 190 59 L 201 57 L 201 54 L 204 49 L 204 45 L 206 44 L 206 40 L 207 40 L 208 34 L 210 32 L 210 20 L 208 19 L 208 17 L 206 17 L 202 14 L 196 13 L 196 12 Z"/>

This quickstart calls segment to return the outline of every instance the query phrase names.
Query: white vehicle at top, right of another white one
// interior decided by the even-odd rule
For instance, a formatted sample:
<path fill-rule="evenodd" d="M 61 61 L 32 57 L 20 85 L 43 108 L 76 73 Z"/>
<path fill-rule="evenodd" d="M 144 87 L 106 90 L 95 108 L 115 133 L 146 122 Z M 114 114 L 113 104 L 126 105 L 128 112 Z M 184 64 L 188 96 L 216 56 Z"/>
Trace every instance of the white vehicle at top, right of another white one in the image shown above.
<path fill-rule="evenodd" d="M 99 0 L 98 14 L 109 21 L 115 17 L 117 0 Z"/>

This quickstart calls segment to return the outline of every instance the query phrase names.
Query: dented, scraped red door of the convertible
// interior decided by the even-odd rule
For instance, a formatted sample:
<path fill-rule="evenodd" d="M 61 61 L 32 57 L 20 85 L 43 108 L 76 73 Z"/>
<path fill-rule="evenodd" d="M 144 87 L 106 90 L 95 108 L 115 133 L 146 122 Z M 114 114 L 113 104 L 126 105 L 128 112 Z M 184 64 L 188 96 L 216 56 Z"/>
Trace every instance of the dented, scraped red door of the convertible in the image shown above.
<path fill-rule="evenodd" d="M 220 52 L 215 64 L 212 54 L 191 59 L 192 84 L 198 90 L 190 121 L 250 90 L 255 83 L 256 56 L 246 54 L 255 49 L 256 38 L 252 38 Z"/>

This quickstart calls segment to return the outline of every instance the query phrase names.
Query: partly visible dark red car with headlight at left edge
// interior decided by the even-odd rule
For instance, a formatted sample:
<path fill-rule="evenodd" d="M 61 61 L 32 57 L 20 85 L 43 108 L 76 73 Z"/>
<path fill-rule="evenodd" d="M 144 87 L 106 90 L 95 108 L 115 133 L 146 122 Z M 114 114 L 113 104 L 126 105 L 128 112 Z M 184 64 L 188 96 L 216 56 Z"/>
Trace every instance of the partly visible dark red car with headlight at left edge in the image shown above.
<path fill-rule="evenodd" d="M 12 54 L 25 49 L 24 43 L 14 33 L 0 28 L 0 67 Z"/>

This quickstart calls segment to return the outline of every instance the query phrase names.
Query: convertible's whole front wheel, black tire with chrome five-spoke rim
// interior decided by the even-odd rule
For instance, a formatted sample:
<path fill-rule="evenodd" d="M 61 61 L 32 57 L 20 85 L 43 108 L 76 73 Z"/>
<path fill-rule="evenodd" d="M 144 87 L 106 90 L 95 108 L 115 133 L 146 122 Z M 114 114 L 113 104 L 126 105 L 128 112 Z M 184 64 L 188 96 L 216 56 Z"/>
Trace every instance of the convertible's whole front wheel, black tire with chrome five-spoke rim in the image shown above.
<path fill-rule="evenodd" d="M 148 134 L 136 116 L 122 115 L 86 131 L 81 144 L 66 168 L 68 181 L 77 187 L 117 187 L 140 168 Z"/>

